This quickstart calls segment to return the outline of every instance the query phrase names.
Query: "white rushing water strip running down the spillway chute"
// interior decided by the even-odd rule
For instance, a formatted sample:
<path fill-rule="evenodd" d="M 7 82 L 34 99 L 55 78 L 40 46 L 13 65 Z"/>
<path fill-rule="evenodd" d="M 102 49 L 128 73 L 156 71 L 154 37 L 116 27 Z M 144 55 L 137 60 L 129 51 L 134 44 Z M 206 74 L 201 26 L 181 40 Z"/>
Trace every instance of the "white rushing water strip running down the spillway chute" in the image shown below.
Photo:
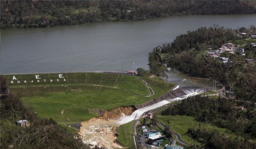
<path fill-rule="evenodd" d="M 198 92 L 193 92 L 193 93 L 190 93 L 188 95 L 183 95 L 183 96 L 180 96 L 180 97 L 177 97 L 177 98 L 174 98 L 174 99 L 169 99 L 169 100 L 162 100 L 160 101 L 159 103 L 155 103 L 153 105 L 150 105 L 150 106 L 146 106 L 144 108 L 141 108 L 141 109 L 137 109 L 136 111 L 134 111 L 130 116 L 123 116 L 123 117 L 120 117 L 119 120 L 117 120 L 117 123 L 122 125 L 122 124 L 125 124 L 125 123 L 128 123 L 132 120 L 137 120 L 139 119 L 140 117 L 143 116 L 143 114 L 149 110 L 152 110 L 152 109 L 156 109 L 160 106 L 164 106 L 168 103 L 171 103 L 175 100 L 183 100 L 189 96 L 195 96 L 195 95 L 198 95 Z"/>

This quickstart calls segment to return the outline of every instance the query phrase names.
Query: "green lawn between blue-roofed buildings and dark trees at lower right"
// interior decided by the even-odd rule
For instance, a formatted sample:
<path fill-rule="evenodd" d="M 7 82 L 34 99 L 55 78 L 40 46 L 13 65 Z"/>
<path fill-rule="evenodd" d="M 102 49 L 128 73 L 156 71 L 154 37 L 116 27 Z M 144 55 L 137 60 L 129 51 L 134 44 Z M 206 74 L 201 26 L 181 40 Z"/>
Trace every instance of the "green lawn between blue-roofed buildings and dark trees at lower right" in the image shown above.
<path fill-rule="evenodd" d="M 176 133 L 178 133 L 185 142 L 195 144 L 195 145 L 201 145 L 198 141 L 190 138 L 186 134 L 189 128 L 198 127 L 200 124 L 200 122 L 194 120 L 194 117 L 179 116 L 179 115 L 167 116 L 167 115 L 161 115 L 160 112 L 157 112 L 157 117 L 160 122 L 163 122 L 165 124 L 167 123 L 167 120 L 169 120 L 170 123 L 173 125 L 173 130 Z M 208 127 L 209 129 L 215 129 L 221 133 L 226 133 L 228 131 L 227 129 L 223 129 L 223 128 L 206 124 L 206 123 L 201 123 L 201 126 L 203 128 Z"/>

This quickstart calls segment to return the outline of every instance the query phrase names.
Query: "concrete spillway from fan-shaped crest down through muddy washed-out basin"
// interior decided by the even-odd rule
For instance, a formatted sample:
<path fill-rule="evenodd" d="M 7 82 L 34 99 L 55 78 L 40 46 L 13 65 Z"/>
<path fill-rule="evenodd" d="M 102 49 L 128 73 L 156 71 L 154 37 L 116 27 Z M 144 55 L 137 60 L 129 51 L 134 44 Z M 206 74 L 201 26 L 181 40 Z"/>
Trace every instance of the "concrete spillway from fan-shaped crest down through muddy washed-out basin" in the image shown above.
<path fill-rule="evenodd" d="M 151 102 L 150 104 L 138 106 L 140 108 L 137 108 L 137 110 L 134 111 L 131 115 L 124 115 L 118 120 L 89 120 L 88 122 L 83 123 L 80 135 L 82 136 L 84 143 L 91 144 L 93 146 L 105 146 L 107 149 L 112 149 L 113 146 L 116 148 L 121 148 L 121 146 L 114 143 L 113 141 L 116 137 L 113 133 L 111 133 L 111 129 L 113 129 L 115 126 L 120 126 L 132 120 L 137 120 L 149 110 L 156 109 L 173 101 L 182 100 L 189 96 L 195 96 L 206 91 L 207 89 L 195 86 L 177 88 L 161 97 L 158 97 L 158 100 L 154 100 L 154 103 Z M 106 140 L 106 138 L 112 139 Z"/>

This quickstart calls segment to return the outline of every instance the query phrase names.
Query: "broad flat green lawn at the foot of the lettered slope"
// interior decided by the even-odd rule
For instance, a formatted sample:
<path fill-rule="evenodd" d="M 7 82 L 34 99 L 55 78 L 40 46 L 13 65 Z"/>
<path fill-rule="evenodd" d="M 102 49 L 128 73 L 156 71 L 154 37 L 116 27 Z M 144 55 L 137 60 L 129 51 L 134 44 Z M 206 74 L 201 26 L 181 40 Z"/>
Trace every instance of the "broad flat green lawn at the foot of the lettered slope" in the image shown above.
<path fill-rule="evenodd" d="M 75 88 L 75 86 L 72 86 Z M 101 86 L 76 86 L 81 91 L 49 92 L 43 95 L 23 97 L 31 104 L 40 117 L 52 118 L 58 123 L 82 122 L 98 116 L 90 114 L 88 109 L 113 109 L 119 106 L 136 105 L 147 101 L 139 99 L 129 92 Z M 64 115 L 61 116 L 61 110 Z"/>

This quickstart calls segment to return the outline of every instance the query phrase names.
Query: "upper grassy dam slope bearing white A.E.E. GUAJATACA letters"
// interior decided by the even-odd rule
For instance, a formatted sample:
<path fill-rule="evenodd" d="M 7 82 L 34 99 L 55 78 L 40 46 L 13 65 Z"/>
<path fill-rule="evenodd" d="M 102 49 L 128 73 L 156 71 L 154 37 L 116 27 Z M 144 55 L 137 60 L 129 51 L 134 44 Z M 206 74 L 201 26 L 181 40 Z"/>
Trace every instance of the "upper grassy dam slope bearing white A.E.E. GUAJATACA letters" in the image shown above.
<path fill-rule="evenodd" d="M 96 85 L 105 87 L 114 87 L 118 89 L 126 89 L 134 92 L 137 95 L 149 95 L 150 91 L 136 77 L 123 74 L 107 74 L 107 73 L 60 73 L 60 74 L 17 74 L 17 75 L 5 75 L 11 88 L 22 87 L 19 90 L 23 96 L 36 95 L 39 93 L 45 93 L 47 87 L 49 92 L 54 92 L 55 88 L 49 86 L 67 86 L 67 85 Z M 40 86 L 33 93 L 29 93 L 30 86 Z M 58 88 L 58 87 L 57 87 Z M 15 91 L 15 89 L 12 89 Z M 41 91 L 41 92 L 40 92 Z M 28 93 L 26 95 L 26 93 Z"/>

